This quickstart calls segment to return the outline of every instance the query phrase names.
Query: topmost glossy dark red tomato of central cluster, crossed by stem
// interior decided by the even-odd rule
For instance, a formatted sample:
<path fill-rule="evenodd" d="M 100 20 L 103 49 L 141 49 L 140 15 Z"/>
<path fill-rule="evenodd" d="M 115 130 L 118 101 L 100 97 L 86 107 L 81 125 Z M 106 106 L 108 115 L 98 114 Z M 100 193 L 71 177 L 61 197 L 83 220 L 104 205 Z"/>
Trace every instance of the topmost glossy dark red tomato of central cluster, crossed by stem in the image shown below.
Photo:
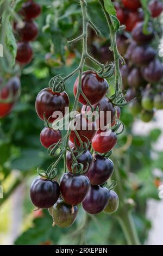
<path fill-rule="evenodd" d="M 77 94 L 78 90 L 78 78 L 74 83 L 74 96 Z M 101 101 L 101 99 L 106 94 L 109 88 L 108 82 L 99 77 L 96 72 L 88 70 L 83 72 L 82 75 L 82 90 L 87 99 L 91 102 L 92 105 Z M 84 97 L 80 94 L 79 102 L 83 105 L 86 105 L 87 102 Z"/>

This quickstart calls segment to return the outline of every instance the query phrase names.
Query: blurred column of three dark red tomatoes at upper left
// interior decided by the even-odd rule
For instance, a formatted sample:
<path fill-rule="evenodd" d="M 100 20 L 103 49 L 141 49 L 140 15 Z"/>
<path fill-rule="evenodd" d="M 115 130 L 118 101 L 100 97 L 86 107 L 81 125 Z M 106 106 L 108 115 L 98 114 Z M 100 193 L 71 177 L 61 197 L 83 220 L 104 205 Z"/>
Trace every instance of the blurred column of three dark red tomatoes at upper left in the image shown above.
<path fill-rule="evenodd" d="M 33 50 L 29 42 L 35 40 L 38 34 L 38 28 L 34 18 L 41 13 L 40 5 L 28 0 L 22 4 L 20 15 L 22 22 L 14 24 L 14 30 L 17 33 L 19 41 L 17 42 L 16 60 L 20 64 L 28 64 L 33 57 Z"/>

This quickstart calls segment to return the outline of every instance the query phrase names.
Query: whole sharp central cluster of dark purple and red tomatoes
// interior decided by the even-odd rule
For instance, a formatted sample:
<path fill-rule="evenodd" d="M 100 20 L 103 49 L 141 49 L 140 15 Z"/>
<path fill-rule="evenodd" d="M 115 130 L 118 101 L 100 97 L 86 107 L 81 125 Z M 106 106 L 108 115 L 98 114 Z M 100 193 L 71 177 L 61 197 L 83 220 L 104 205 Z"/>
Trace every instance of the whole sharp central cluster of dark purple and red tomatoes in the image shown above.
<path fill-rule="evenodd" d="M 77 78 L 74 83 L 74 96 L 77 95 L 78 83 Z M 56 180 L 49 179 L 45 173 L 45 178 L 36 178 L 30 187 L 33 204 L 39 209 L 49 209 L 54 223 L 59 227 L 69 227 L 73 224 L 80 203 L 89 214 L 102 211 L 112 213 L 118 208 L 117 194 L 105 187 L 114 170 L 114 164 L 106 157 L 106 153 L 117 143 L 114 127 L 121 112 L 120 108 L 114 106 L 106 97 L 108 88 L 108 82 L 95 71 L 83 72 L 82 90 L 86 98 L 80 94 L 79 102 L 83 107 L 73 119 L 76 131 L 69 130 L 67 172 L 62 175 L 60 185 Z M 87 114 L 90 113 L 91 107 L 87 106 L 86 100 L 91 103 L 93 109 L 102 109 L 101 115 L 90 120 Z M 55 111 L 65 115 L 65 107 L 68 106 L 66 92 L 55 93 L 50 88 L 45 88 L 37 95 L 36 112 L 42 120 L 48 120 L 48 126 L 40 134 L 40 141 L 45 148 L 51 149 L 61 142 L 61 132 L 52 129 L 49 124 L 56 120 L 53 115 Z M 110 113 L 110 118 L 106 117 L 107 112 Z M 99 129 L 99 126 L 96 129 L 101 121 L 99 119 L 103 119 L 103 129 Z M 110 129 L 106 129 L 108 123 L 111 123 Z M 95 151 L 95 154 L 92 155 L 92 151 Z M 79 172 L 81 167 L 82 172 Z"/>

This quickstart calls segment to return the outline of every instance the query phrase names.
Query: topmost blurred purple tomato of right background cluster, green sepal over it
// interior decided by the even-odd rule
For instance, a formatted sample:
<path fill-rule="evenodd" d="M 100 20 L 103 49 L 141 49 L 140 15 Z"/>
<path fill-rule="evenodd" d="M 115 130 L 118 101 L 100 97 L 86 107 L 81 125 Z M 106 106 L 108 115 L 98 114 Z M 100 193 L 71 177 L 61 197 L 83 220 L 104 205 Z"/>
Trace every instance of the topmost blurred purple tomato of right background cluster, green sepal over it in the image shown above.
<path fill-rule="evenodd" d="M 151 23 L 149 23 L 147 30 L 148 34 L 143 33 L 143 22 L 140 22 L 135 26 L 131 35 L 137 44 L 148 44 L 154 38 L 154 30 Z"/>

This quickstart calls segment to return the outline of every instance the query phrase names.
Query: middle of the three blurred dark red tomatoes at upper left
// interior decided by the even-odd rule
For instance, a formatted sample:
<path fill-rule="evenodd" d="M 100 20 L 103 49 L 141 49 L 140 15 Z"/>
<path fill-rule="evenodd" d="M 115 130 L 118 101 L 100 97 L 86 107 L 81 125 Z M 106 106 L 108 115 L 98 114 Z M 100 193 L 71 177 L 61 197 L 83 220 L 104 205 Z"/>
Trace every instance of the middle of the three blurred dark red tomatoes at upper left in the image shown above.
<path fill-rule="evenodd" d="M 38 28 L 34 21 L 23 21 L 24 26 L 20 27 L 17 23 L 15 26 L 15 30 L 20 35 L 22 41 L 32 41 L 36 38 L 38 34 Z"/>

